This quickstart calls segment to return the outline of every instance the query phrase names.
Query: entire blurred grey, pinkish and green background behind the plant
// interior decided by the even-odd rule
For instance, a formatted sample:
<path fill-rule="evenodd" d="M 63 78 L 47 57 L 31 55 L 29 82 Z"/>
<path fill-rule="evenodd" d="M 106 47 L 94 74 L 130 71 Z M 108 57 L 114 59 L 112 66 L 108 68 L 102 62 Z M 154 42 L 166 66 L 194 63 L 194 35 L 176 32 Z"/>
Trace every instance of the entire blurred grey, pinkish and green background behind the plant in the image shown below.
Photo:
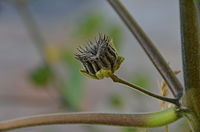
<path fill-rule="evenodd" d="M 178 0 L 123 0 L 169 65 L 182 70 Z M 82 76 L 76 48 L 98 33 L 125 57 L 121 78 L 160 94 L 161 77 L 105 0 L 0 0 L 0 120 L 57 112 L 154 112 L 160 101 Z M 178 75 L 182 81 L 182 72 Z M 183 82 L 183 81 L 182 81 Z M 169 94 L 169 96 L 171 96 Z M 164 132 L 154 129 L 56 125 L 13 132 Z M 188 132 L 185 120 L 169 132 Z"/>

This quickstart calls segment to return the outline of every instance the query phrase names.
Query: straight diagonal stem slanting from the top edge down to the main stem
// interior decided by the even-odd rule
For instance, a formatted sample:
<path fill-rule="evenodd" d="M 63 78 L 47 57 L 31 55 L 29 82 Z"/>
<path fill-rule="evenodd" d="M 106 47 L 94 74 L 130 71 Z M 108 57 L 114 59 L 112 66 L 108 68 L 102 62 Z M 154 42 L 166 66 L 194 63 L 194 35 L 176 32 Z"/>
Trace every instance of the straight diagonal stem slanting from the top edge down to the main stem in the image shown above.
<path fill-rule="evenodd" d="M 147 37 L 142 28 L 137 24 L 134 18 L 129 14 L 125 7 L 119 2 L 119 0 L 108 0 L 110 5 L 118 13 L 120 18 L 129 28 L 131 33 L 138 40 L 139 44 L 142 46 L 151 62 L 154 64 L 156 69 L 159 71 L 161 76 L 164 78 L 168 84 L 172 94 L 177 98 L 180 98 L 183 94 L 183 87 L 179 80 L 174 75 L 173 71 L 164 60 L 160 52 L 157 50 L 152 41 Z"/>

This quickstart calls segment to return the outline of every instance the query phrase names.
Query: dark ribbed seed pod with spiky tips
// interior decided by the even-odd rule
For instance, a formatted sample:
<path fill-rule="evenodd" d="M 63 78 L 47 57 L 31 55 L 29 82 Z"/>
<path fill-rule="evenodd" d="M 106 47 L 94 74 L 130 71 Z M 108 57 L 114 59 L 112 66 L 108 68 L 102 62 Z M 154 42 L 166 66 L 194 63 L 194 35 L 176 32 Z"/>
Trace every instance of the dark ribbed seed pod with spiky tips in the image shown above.
<path fill-rule="evenodd" d="M 78 51 L 75 58 L 83 64 L 84 72 L 92 76 L 96 76 L 101 69 L 114 72 L 124 60 L 123 57 L 118 56 L 112 40 L 101 34 L 95 43 L 89 41 L 85 48 L 79 47 Z"/>

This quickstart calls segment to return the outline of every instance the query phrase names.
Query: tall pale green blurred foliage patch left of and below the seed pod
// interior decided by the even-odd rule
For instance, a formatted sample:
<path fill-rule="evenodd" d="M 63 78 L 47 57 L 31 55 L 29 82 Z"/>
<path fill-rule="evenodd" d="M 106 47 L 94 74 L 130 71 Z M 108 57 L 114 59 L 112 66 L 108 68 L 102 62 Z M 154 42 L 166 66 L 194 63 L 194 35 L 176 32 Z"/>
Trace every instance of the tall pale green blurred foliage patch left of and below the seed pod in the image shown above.
<path fill-rule="evenodd" d="M 63 52 L 62 60 L 66 64 L 69 77 L 62 88 L 64 102 L 68 102 L 71 109 L 80 110 L 84 88 L 84 80 L 79 72 L 81 65 L 74 59 L 74 55 L 67 51 Z"/>

